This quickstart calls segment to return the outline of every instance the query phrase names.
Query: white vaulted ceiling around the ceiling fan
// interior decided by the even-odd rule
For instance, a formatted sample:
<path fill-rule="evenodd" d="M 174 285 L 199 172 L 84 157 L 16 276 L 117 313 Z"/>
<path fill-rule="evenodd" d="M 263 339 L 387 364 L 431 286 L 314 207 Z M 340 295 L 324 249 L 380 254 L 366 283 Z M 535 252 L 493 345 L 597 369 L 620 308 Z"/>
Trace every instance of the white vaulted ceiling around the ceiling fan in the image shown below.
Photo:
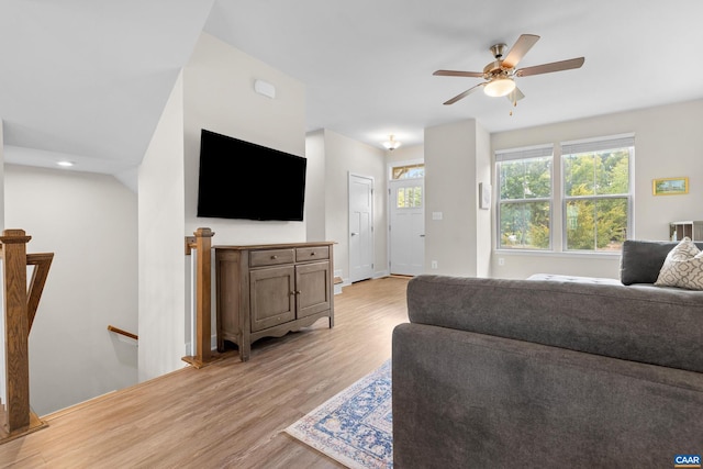
<path fill-rule="evenodd" d="M 499 132 L 702 99 L 702 13 L 700 0 L 3 0 L 5 158 L 136 167 L 201 32 L 302 81 L 309 131 L 377 146 L 465 119 Z M 517 78 L 514 109 L 483 93 L 442 104 L 481 79 L 434 70 L 480 71 L 523 33 L 540 40 L 521 66 L 583 67 Z"/>

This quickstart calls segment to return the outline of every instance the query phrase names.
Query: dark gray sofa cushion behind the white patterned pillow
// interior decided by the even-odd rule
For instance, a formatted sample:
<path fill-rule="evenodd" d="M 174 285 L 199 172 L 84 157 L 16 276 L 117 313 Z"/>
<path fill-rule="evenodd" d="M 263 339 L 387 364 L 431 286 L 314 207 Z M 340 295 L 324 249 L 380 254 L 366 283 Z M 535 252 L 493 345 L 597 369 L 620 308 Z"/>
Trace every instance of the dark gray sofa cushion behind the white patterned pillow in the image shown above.
<path fill-rule="evenodd" d="M 668 241 L 626 239 L 620 265 L 620 279 L 624 284 L 654 283 L 671 249 L 679 243 Z M 703 248 L 703 243 L 695 243 Z"/>

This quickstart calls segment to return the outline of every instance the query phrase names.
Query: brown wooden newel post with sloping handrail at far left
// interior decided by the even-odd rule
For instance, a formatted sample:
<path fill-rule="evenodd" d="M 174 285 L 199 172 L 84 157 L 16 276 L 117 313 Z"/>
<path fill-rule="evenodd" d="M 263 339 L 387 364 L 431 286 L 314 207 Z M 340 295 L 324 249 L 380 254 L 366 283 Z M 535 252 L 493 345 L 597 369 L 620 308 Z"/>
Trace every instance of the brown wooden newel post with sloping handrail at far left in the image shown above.
<path fill-rule="evenodd" d="M 46 426 L 30 409 L 29 338 L 54 254 L 27 255 L 30 239 L 24 230 L 4 230 L 0 236 L 5 332 L 0 444 Z M 34 266 L 29 289 L 26 266 Z"/>

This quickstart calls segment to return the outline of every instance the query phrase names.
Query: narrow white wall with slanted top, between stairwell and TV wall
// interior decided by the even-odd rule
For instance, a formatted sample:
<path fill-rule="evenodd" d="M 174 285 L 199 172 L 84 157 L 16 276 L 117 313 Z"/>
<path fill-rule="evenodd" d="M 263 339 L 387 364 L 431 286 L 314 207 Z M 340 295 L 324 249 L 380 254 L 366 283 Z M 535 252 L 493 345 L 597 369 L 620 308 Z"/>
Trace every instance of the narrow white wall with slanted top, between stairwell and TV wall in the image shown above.
<path fill-rule="evenodd" d="M 140 381 L 186 365 L 182 109 L 181 74 L 138 169 Z"/>

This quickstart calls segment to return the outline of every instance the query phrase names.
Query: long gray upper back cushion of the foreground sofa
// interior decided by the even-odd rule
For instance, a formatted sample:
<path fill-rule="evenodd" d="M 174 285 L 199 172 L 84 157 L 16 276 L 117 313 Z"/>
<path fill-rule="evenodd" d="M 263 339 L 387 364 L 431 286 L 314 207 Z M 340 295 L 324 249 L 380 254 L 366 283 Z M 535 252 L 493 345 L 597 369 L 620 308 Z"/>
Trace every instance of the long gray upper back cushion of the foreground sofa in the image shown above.
<path fill-rule="evenodd" d="M 422 275 L 412 323 L 703 372 L 703 292 L 558 280 Z"/>

